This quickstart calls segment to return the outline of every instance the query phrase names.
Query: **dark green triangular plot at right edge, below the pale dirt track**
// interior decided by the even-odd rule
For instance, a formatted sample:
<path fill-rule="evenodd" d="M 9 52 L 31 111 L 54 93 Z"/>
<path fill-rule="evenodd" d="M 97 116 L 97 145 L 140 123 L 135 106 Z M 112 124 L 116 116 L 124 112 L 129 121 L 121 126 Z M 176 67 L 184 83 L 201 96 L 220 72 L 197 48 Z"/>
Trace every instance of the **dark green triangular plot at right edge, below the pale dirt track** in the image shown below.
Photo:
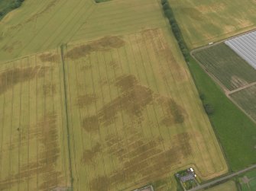
<path fill-rule="evenodd" d="M 230 94 L 233 100 L 256 121 L 256 85 Z"/>

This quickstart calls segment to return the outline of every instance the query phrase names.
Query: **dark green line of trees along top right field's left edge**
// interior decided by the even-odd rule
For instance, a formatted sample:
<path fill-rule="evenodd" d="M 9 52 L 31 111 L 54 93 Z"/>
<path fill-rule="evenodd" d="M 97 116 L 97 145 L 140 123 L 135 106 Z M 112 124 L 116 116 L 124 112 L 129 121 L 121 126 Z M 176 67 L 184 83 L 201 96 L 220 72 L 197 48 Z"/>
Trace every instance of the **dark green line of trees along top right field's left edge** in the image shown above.
<path fill-rule="evenodd" d="M 188 50 L 188 48 L 186 46 L 186 43 L 183 39 L 180 27 L 177 24 L 177 21 L 175 19 L 174 14 L 173 14 L 173 10 L 169 5 L 168 0 L 161 0 L 161 4 L 162 4 L 163 9 L 164 9 L 164 15 L 168 18 L 171 29 L 172 29 L 173 34 L 174 34 L 174 37 L 176 38 L 176 40 L 177 40 L 177 42 L 180 46 L 181 53 L 183 54 L 184 59 L 186 60 L 186 62 L 188 62 L 189 57 L 190 57 L 190 53 L 189 53 L 189 50 Z"/>

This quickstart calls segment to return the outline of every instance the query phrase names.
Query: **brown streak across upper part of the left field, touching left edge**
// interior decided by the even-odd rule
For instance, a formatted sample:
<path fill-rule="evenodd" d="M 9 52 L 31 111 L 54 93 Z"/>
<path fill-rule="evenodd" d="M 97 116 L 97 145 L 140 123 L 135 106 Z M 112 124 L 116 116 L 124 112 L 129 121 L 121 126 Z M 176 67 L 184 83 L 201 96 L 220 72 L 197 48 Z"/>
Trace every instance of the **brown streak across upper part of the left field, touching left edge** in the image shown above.
<path fill-rule="evenodd" d="M 50 67 L 28 67 L 28 68 L 14 68 L 8 69 L 0 73 L 0 94 L 5 93 L 8 89 L 15 86 L 15 84 L 31 80 L 35 77 L 42 78 Z"/>

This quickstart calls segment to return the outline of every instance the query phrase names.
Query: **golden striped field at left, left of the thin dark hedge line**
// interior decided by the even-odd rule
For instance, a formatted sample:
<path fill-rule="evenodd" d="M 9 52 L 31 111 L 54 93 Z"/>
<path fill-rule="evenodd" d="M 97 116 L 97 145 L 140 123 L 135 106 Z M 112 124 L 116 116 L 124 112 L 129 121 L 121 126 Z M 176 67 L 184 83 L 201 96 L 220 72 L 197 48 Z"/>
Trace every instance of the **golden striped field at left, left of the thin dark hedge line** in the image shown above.
<path fill-rule="evenodd" d="M 57 53 L 0 67 L 0 190 L 70 186 Z"/>

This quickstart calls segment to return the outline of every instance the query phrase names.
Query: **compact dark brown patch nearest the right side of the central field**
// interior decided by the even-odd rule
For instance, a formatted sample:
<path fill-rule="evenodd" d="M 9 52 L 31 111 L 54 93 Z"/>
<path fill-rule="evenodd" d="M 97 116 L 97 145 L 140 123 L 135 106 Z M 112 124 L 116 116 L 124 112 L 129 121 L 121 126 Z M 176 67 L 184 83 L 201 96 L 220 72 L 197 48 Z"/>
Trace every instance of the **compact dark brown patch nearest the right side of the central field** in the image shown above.
<path fill-rule="evenodd" d="M 164 126 L 172 126 L 173 124 L 183 123 L 187 114 L 183 107 L 179 106 L 174 100 L 167 97 L 160 97 L 158 102 L 165 108 L 164 119 L 161 123 Z"/>

